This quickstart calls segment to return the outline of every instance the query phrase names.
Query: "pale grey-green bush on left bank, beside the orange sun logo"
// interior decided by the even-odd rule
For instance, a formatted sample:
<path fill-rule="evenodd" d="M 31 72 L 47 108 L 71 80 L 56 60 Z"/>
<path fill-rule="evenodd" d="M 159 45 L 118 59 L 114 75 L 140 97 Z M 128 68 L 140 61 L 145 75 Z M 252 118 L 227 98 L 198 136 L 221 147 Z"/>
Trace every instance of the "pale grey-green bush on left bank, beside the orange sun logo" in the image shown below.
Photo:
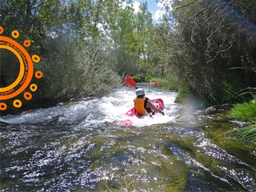
<path fill-rule="evenodd" d="M 64 38 L 58 36 L 45 42 L 44 58 L 34 65 L 35 71 L 43 72 L 43 77 L 33 77 L 31 82 L 38 88 L 32 99 L 29 102 L 20 99 L 22 108 L 14 111 L 8 108 L 1 115 L 47 108 L 77 97 L 98 96 L 122 83 L 105 60 L 104 45 L 92 39 L 68 43 Z"/>

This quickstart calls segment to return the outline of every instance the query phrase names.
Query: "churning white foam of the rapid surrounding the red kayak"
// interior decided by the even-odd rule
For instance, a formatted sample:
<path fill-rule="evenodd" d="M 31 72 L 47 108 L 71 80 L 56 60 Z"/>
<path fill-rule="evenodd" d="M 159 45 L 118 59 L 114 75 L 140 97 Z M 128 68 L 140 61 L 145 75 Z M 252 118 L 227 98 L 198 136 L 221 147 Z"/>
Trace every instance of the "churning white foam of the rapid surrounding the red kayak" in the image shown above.
<path fill-rule="evenodd" d="M 3 116 L 0 120 L 9 124 L 98 125 L 110 122 L 119 125 L 120 120 L 129 118 L 132 120 L 132 125 L 142 127 L 170 122 L 177 116 L 180 106 L 173 103 L 177 93 L 159 90 L 159 88 L 155 90 L 150 86 L 143 88 L 149 99 L 163 99 L 164 116 L 156 114 L 152 118 L 145 116 L 141 119 L 135 116 L 132 118 L 125 116 L 125 113 L 133 108 L 133 99 L 136 95 L 135 88 L 124 86 L 102 98 L 81 100 L 70 106 L 25 111 L 20 115 Z"/>

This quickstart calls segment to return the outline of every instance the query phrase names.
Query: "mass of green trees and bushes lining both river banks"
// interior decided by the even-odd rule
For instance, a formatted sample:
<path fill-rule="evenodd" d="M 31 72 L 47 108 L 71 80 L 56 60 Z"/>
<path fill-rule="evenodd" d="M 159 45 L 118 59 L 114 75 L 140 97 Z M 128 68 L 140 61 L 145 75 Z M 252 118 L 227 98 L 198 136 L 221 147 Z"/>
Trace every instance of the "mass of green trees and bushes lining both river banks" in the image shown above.
<path fill-rule="evenodd" d="M 164 4 L 163 17 L 154 21 L 147 1 L 139 12 L 132 1 L 125 6 L 116 0 L 3 1 L 1 36 L 19 31 L 18 44 L 29 40 L 29 55 L 40 56 L 34 70 L 44 75 L 31 80 L 37 86 L 31 100 L 23 96 L 29 88 L 1 100 L 7 106 L 1 116 L 97 97 L 122 85 L 126 76 L 178 90 L 177 102 L 196 95 L 202 108 L 255 100 L 256 1 L 172 3 Z M 19 76 L 20 63 L 7 49 L 0 54 L 4 88 Z M 13 107 L 14 99 L 22 102 L 20 108 Z M 254 117 L 248 120 L 253 123 Z"/>

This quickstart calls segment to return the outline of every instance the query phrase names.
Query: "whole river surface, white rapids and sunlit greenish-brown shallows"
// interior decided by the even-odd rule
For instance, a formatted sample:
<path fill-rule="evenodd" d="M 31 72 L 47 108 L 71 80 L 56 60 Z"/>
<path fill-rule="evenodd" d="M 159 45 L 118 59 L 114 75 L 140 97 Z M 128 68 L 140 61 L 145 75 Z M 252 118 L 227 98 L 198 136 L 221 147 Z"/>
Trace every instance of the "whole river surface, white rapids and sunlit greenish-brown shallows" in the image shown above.
<path fill-rule="evenodd" d="M 0 190 L 256 191 L 255 150 L 213 139 L 244 125 L 228 106 L 198 111 L 192 101 L 175 104 L 175 92 L 138 86 L 164 100 L 164 116 L 125 117 L 135 97 L 129 86 L 2 116 Z M 132 125 L 120 125 L 126 119 Z"/>

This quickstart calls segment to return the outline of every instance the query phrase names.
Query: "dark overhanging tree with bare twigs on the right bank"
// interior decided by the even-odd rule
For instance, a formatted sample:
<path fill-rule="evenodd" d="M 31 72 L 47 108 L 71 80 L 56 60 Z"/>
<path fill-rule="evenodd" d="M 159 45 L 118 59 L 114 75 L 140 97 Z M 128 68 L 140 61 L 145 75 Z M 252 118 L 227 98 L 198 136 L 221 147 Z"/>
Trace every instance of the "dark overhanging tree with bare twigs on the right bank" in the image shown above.
<path fill-rule="evenodd" d="M 228 101 L 225 84 L 230 81 L 240 81 L 239 86 L 229 87 L 233 93 L 255 84 L 255 74 L 229 70 L 253 68 L 255 63 L 255 27 L 250 24 L 255 20 L 255 1 L 184 0 L 173 4 L 172 34 L 176 38 L 172 42 L 175 49 L 169 49 L 168 67 L 182 81 L 213 103 Z M 247 6 L 250 11 L 244 9 Z"/>

